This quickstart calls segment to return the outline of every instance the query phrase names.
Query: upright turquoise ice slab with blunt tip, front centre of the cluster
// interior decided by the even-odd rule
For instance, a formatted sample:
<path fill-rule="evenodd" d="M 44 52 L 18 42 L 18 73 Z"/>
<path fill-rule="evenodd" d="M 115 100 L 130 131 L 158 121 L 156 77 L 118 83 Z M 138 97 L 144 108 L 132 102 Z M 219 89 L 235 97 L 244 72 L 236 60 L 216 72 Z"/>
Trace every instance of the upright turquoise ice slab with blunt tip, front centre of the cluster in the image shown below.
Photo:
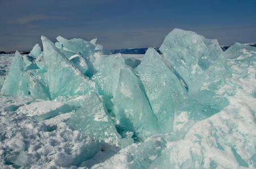
<path fill-rule="evenodd" d="M 135 137 L 144 140 L 161 132 L 138 78 L 129 69 L 120 69 L 114 106 L 117 124 L 132 131 Z"/>

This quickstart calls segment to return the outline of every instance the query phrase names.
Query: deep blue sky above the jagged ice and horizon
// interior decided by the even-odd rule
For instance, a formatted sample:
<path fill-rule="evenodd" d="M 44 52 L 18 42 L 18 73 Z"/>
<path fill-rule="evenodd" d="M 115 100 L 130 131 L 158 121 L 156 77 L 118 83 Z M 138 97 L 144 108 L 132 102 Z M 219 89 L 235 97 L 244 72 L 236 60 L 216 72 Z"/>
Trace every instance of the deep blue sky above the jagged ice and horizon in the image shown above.
<path fill-rule="evenodd" d="M 256 42 L 255 0 L 0 0 L 0 6 L 0 51 L 31 50 L 41 35 L 54 42 L 58 35 L 97 37 L 107 49 L 159 47 L 174 28 L 220 45 Z"/>

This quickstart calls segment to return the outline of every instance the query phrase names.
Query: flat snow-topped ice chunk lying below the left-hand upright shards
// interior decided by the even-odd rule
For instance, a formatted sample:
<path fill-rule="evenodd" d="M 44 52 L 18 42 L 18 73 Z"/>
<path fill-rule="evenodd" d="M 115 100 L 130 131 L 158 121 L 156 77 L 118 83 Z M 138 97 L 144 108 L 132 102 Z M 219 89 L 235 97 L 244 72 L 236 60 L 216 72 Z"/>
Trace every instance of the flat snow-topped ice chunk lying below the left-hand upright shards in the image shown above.
<path fill-rule="evenodd" d="M 68 113 L 73 110 L 73 106 L 56 101 L 40 101 L 29 105 L 21 106 L 17 113 L 25 114 L 39 121 L 49 119 L 61 113 Z"/>

